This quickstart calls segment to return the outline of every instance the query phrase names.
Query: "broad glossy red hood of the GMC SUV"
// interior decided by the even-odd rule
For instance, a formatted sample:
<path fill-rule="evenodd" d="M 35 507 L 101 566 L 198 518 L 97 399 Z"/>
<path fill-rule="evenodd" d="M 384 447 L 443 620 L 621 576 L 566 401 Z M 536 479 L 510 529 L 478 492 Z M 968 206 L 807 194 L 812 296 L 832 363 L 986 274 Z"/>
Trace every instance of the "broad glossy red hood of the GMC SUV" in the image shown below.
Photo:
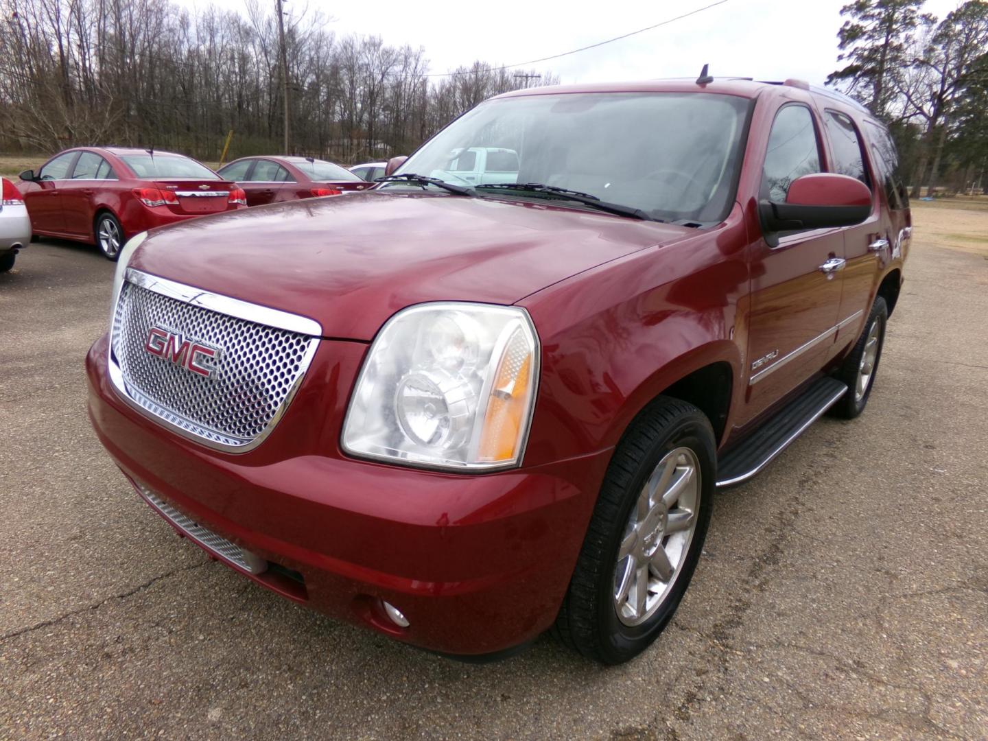
<path fill-rule="evenodd" d="M 514 303 L 695 229 L 606 213 L 371 191 L 183 221 L 151 232 L 130 266 L 315 319 L 370 341 L 405 306 Z"/>

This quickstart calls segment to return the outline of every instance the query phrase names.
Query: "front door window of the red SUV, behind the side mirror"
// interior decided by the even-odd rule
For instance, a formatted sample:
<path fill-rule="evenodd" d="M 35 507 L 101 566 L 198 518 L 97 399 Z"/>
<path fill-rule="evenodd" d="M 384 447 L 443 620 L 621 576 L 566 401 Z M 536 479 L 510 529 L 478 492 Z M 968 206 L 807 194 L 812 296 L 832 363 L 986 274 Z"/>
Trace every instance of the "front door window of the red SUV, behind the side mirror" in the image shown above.
<path fill-rule="evenodd" d="M 761 197 L 781 204 L 793 180 L 816 172 L 820 147 L 813 117 L 805 106 L 783 106 L 769 134 Z"/>

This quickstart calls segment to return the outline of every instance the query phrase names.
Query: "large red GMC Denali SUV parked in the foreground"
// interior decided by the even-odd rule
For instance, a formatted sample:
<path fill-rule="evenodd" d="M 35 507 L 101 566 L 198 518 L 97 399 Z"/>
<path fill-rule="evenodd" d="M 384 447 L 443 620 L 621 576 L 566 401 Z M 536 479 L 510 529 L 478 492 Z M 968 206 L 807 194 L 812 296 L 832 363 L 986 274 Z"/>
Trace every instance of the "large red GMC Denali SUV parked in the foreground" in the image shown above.
<path fill-rule="evenodd" d="M 509 93 L 402 159 L 133 237 L 93 425 L 290 600 L 460 657 L 551 630 L 624 661 L 716 490 L 864 409 L 910 242 L 888 131 L 704 76 Z"/>

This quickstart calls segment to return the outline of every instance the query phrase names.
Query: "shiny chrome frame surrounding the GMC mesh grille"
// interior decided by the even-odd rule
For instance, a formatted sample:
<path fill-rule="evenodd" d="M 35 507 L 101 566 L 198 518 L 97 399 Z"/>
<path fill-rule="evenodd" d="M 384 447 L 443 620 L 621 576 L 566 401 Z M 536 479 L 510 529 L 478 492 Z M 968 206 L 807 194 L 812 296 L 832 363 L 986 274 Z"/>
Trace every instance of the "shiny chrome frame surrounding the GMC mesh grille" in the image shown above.
<path fill-rule="evenodd" d="M 264 431 L 256 438 L 246 443 L 229 436 L 222 436 L 216 430 L 210 429 L 207 431 L 209 434 L 215 437 L 222 437 L 225 440 L 225 442 L 220 442 L 210 440 L 205 435 L 196 432 L 196 430 L 200 429 L 206 431 L 206 428 L 202 425 L 191 420 L 187 420 L 183 416 L 161 407 L 159 404 L 147 399 L 146 396 L 138 389 L 132 388 L 129 384 L 127 384 L 124 379 L 124 371 L 121 369 L 120 364 L 118 364 L 117 359 L 114 357 L 113 324 L 111 324 L 111 340 L 107 350 L 110 382 L 117 390 L 118 395 L 130 407 L 140 412 L 147 419 L 160 425 L 161 427 L 176 433 L 186 440 L 197 443 L 213 451 L 234 454 L 249 453 L 260 446 L 265 440 L 268 439 L 271 432 L 278 427 L 278 423 L 282 421 L 282 417 L 284 417 L 285 413 L 288 411 L 288 407 L 291 405 L 295 393 L 298 391 L 299 386 L 301 386 L 302 380 L 305 378 L 308 368 L 312 363 L 312 359 L 315 357 L 316 350 L 319 348 L 319 340 L 322 336 L 321 325 L 313 319 L 309 319 L 304 316 L 289 314 L 287 311 L 279 311 L 278 309 L 269 308 L 267 306 L 259 306 L 254 303 L 248 303 L 247 301 L 241 301 L 237 298 L 231 298 L 218 293 L 210 293 L 199 288 L 193 288 L 191 286 L 177 283 L 176 281 L 158 278 L 157 276 L 152 276 L 149 273 L 144 273 L 143 271 L 135 270 L 134 268 L 127 268 L 124 280 L 140 288 L 145 288 L 195 306 L 201 306 L 209 309 L 210 311 L 215 311 L 216 313 L 228 314 L 229 316 L 237 319 L 243 319 L 244 321 L 254 322 L 255 324 L 264 324 L 278 329 L 284 329 L 289 332 L 306 334 L 311 337 L 309 346 L 306 348 L 304 358 L 300 364 L 301 371 L 298 373 L 298 377 L 295 378 L 294 383 L 292 383 L 291 387 L 288 389 L 288 394 L 285 397 L 285 401 L 268 422 L 268 426 L 264 429 Z M 121 292 L 123 293 L 123 290 Z M 117 302 L 119 300 L 120 296 L 118 295 L 114 300 L 113 321 L 116 321 Z"/>

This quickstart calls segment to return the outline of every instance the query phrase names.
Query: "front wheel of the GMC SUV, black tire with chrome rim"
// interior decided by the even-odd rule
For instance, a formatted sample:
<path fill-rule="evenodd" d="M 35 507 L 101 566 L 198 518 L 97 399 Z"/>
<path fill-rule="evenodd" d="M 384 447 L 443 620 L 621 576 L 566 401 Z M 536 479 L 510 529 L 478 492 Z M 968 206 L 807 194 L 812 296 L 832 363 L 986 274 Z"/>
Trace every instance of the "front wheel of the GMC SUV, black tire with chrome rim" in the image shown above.
<path fill-rule="evenodd" d="M 615 451 L 553 632 L 605 664 L 666 626 L 710 522 L 716 444 L 700 410 L 660 396 Z"/>

